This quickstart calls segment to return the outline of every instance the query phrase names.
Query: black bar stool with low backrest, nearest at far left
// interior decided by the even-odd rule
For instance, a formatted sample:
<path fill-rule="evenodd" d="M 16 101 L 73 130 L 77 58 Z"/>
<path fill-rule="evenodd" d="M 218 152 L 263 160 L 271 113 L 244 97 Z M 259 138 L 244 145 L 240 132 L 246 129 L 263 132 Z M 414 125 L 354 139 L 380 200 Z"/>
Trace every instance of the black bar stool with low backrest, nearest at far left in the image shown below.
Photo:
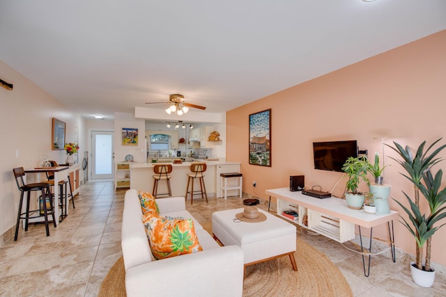
<path fill-rule="evenodd" d="M 48 214 L 52 215 L 53 218 L 53 224 L 54 227 L 56 227 L 56 218 L 54 218 L 54 209 L 53 209 L 53 203 L 52 203 L 52 197 L 49 193 L 49 184 L 47 182 L 38 182 L 33 184 L 25 184 L 23 177 L 25 176 L 25 172 L 23 167 L 18 167 L 13 169 L 15 182 L 17 183 L 17 188 L 20 191 L 20 202 L 19 202 L 19 210 L 17 214 L 17 223 L 15 224 L 15 236 L 14 241 L 17 241 L 17 236 L 19 234 L 19 226 L 20 226 L 20 220 L 25 220 L 25 232 L 28 231 L 28 222 L 30 218 L 38 218 L 40 217 L 40 209 L 36 210 L 29 210 L 29 204 L 31 199 L 31 192 L 32 191 L 41 191 L 42 196 L 41 199 L 43 201 L 42 208 L 43 208 L 43 216 L 45 217 L 45 227 L 47 230 L 47 236 L 49 236 L 49 224 L 48 224 Z M 26 210 L 22 212 L 23 207 L 23 200 L 24 200 L 24 193 L 27 193 L 26 195 L 26 204 L 25 208 Z M 47 209 L 47 199 L 49 200 L 49 209 Z M 35 213 L 38 213 L 36 215 Z M 31 216 L 30 216 L 31 214 Z"/>

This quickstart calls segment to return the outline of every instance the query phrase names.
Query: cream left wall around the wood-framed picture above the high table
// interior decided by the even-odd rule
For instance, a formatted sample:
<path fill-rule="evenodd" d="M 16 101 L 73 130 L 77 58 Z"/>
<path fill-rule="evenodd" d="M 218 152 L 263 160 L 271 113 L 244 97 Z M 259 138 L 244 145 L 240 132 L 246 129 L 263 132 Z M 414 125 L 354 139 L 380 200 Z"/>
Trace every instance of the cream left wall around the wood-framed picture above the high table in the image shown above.
<path fill-rule="evenodd" d="M 13 90 L 0 88 L 0 244 L 15 226 L 20 192 L 15 184 L 13 168 L 38 166 L 40 156 L 65 163 L 66 152 L 52 150 L 52 118 L 66 122 L 66 141 L 75 141 L 77 122 L 79 156 L 85 148 L 84 122 L 79 115 L 0 61 L 0 78 L 13 83 Z M 81 173 L 82 174 L 82 173 Z M 32 175 L 29 175 L 32 180 Z M 81 176 L 82 180 L 82 176 Z"/>

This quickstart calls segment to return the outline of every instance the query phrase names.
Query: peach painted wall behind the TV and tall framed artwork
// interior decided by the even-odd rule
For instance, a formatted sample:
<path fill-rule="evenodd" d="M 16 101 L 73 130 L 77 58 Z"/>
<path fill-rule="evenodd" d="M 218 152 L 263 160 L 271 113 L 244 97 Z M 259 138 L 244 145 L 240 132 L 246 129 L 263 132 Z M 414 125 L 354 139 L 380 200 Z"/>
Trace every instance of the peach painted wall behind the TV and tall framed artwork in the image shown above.
<path fill-rule="evenodd" d="M 289 175 L 302 174 L 307 186 L 330 191 L 341 173 L 314 170 L 314 141 L 356 139 L 360 150 L 373 156 L 375 151 L 383 154 L 380 138 L 417 147 L 445 136 L 445 49 L 446 31 L 440 31 L 229 111 L 226 156 L 242 163 L 244 190 L 267 200 L 266 189 L 289 186 Z M 272 109 L 270 168 L 248 163 L 248 117 L 265 109 Z M 394 156 L 390 148 L 384 151 L 386 164 L 392 165 L 385 170 L 385 182 L 392 184 L 391 195 L 404 201 L 401 191 L 413 195 L 413 188 L 399 174 L 402 168 L 388 158 Z M 446 171 L 446 161 L 434 171 L 439 168 Z M 342 195 L 345 182 L 339 182 L 334 195 Z M 400 210 L 393 201 L 390 206 Z M 376 230 L 387 238 L 384 226 Z M 396 222 L 395 232 L 397 247 L 414 254 L 415 241 L 408 231 Z M 446 265 L 446 227 L 433 236 L 433 244 L 432 261 Z"/>

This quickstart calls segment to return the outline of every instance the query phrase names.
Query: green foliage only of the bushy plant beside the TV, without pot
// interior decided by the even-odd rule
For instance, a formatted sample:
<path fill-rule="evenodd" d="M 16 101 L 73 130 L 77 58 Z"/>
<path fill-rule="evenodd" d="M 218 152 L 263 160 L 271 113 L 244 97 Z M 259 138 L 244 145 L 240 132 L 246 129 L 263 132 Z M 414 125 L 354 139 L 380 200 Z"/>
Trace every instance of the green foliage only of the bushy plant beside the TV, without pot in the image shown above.
<path fill-rule="evenodd" d="M 367 170 L 369 168 L 369 161 L 367 156 L 350 156 L 344 163 L 342 171 L 348 175 L 348 181 L 346 183 L 347 192 L 354 195 L 360 194 L 357 191 L 361 181 L 366 182 L 369 186 L 369 178 L 367 177 Z"/>

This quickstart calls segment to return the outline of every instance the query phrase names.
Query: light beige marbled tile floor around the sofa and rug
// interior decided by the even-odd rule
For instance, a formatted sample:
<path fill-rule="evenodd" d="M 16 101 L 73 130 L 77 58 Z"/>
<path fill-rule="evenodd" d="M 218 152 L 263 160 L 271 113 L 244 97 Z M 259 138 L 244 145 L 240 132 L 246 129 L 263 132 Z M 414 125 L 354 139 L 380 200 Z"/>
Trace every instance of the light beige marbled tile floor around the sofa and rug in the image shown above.
<path fill-rule="evenodd" d="M 0 296 L 97 296 L 109 268 L 121 257 L 121 218 L 125 190 L 114 190 L 113 181 L 89 181 L 75 197 L 75 209 L 45 236 L 44 225 L 22 229 L 17 241 L 0 247 Z M 194 200 L 187 210 L 206 224 L 213 211 L 243 207 L 242 200 Z M 259 205 L 268 209 L 268 204 Z M 446 296 L 446 278 L 437 274 L 430 289 L 417 286 L 408 270 L 409 259 L 372 257 L 365 278 L 360 255 L 321 235 L 298 227 L 298 236 L 325 252 L 348 280 L 355 296 Z M 296 292 L 298 296 L 298 292 Z"/>

